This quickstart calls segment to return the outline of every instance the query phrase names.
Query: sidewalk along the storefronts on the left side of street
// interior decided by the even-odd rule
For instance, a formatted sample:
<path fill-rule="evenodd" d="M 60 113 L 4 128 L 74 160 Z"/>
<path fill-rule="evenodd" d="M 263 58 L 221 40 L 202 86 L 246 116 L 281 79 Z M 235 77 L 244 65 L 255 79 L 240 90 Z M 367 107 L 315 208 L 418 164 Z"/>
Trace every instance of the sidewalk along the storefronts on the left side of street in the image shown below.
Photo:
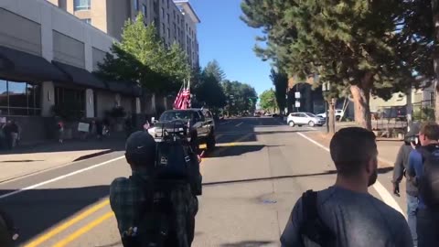
<path fill-rule="evenodd" d="M 39 145 L 17 146 L 11 151 L 0 151 L 0 182 L 123 150 L 123 145 L 122 136 L 110 136 L 102 141 L 95 138 L 66 141 L 62 144 L 51 141 Z"/>

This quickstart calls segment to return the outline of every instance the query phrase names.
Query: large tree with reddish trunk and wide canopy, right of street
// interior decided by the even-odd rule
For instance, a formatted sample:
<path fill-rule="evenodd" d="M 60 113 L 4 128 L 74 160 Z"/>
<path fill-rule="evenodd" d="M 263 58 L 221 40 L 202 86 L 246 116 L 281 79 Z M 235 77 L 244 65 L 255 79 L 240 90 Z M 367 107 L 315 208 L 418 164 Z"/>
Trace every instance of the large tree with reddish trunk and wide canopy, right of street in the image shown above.
<path fill-rule="evenodd" d="M 337 91 L 349 87 L 356 121 L 371 129 L 370 94 L 388 99 L 413 80 L 395 35 L 403 2 L 244 0 L 241 8 L 243 21 L 266 34 L 258 39 L 266 48 L 255 48 L 262 59 L 300 78 L 317 74 Z"/>

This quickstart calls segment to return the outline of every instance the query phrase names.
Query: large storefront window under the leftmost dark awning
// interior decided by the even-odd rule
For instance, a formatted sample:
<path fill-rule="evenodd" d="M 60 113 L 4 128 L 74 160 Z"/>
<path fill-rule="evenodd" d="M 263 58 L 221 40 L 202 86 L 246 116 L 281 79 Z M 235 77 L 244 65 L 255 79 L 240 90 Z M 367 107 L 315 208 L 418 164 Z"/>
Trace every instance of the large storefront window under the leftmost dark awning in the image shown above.
<path fill-rule="evenodd" d="M 38 84 L 0 80 L 0 115 L 40 115 Z"/>

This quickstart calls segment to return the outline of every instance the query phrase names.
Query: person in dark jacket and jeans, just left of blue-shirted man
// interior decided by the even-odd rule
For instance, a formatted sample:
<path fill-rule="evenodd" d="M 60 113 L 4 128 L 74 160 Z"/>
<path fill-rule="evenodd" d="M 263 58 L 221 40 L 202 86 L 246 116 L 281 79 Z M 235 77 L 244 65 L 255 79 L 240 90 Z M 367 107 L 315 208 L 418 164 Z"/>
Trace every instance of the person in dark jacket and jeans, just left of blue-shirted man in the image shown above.
<path fill-rule="evenodd" d="M 393 168 L 393 194 L 398 197 L 400 197 L 400 183 L 402 181 L 402 177 L 406 175 L 406 170 L 409 167 L 409 156 L 416 145 L 419 145 L 417 136 L 421 128 L 420 124 L 413 123 L 409 126 L 409 128 L 409 131 L 407 134 L 405 134 L 404 143 L 401 145 L 400 150 L 398 151 L 398 156 L 396 156 L 395 166 Z M 416 247 L 418 245 L 418 236 L 416 234 L 418 188 L 410 179 L 407 179 L 405 192 L 407 198 L 407 221 L 412 233 L 413 246 Z"/>

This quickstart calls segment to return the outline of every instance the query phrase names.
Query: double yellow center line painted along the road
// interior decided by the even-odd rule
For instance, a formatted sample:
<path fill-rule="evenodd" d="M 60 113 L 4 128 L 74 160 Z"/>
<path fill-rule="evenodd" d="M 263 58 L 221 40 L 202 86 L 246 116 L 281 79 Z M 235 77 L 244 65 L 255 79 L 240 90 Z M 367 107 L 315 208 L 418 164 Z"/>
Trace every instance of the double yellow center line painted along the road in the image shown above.
<path fill-rule="evenodd" d="M 242 140 L 246 139 L 249 135 L 250 134 L 245 134 L 241 138 L 237 139 L 234 143 L 224 144 L 222 146 L 231 147 L 231 146 L 237 145 L 238 142 L 241 142 Z M 225 151 L 225 149 L 219 150 L 219 153 L 221 151 Z M 93 213 L 97 212 L 98 210 L 103 209 L 103 208 L 105 208 L 106 206 L 109 206 L 109 205 L 110 205 L 110 200 L 109 199 L 104 199 L 101 202 L 99 202 L 98 204 L 95 204 L 95 205 L 91 206 L 91 208 L 86 209 L 85 211 L 81 212 L 79 215 L 75 216 L 74 218 L 72 218 L 72 219 L 62 223 L 61 225 L 53 228 L 52 230 L 44 233 L 43 235 L 38 236 L 35 240 L 32 240 L 31 242 L 28 242 L 25 245 L 25 247 L 37 247 L 40 244 L 42 244 L 43 242 L 47 242 L 48 240 L 50 240 L 54 236 L 58 235 L 60 232 L 69 229 L 74 224 L 80 222 L 80 220 L 84 220 L 84 219 L 90 217 L 91 214 L 93 214 Z M 92 220 L 90 223 L 86 224 L 83 227 L 80 227 L 79 230 L 74 231 L 73 233 L 71 233 L 66 238 L 63 238 L 59 242 L 56 242 L 53 245 L 53 247 L 64 247 L 64 246 L 66 246 L 70 242 L 75 241 L 81 235 L 87 233 L 88 231 L 91 231 L 93 228 L 95 228 L 95 227 L 99 226 L 100 224 L 102 224 L 103 221 L 109 220 L 113 216 L 114 216 L 114 213 L 112 211 L 106 212 L 104 215 L 102 215 L 98 219 Z"/>

